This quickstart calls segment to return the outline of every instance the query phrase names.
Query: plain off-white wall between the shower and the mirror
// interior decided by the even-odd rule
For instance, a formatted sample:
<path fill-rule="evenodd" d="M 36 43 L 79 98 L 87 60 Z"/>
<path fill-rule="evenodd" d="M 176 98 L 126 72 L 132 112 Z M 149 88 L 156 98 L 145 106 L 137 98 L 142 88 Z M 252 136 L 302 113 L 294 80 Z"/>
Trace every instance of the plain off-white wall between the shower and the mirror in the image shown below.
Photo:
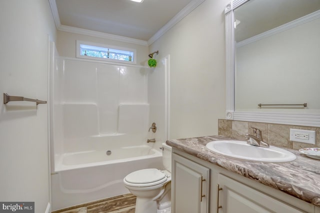
<path fill-rule="evenodd" d="M 170 139 L 217 134 L 225 111 L 224 7 L 206 0 L 149 46 L 170 55 Z"/>

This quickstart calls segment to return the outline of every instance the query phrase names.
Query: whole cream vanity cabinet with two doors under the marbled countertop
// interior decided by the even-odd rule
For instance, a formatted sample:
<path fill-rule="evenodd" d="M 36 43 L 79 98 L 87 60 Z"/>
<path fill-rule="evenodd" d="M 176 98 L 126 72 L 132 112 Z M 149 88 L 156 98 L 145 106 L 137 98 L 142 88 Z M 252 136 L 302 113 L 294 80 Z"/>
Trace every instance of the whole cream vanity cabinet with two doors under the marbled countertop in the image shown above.
<path fill-rule="evenodd" d="M 204 205 L 199 201 L 200 171 L 210 173 L 206 208 L 199 207 Z M 172 149 L 171 184 L 172 213 L 320 213 L 314 205 L 177 149 Z"/>

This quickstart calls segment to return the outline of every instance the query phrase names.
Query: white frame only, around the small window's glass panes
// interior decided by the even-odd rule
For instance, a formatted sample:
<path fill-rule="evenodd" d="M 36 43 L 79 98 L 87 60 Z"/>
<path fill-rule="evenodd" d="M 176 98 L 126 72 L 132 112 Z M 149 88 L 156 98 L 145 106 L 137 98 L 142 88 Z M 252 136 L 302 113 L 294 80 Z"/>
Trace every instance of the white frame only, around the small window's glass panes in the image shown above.
<path fill-rule="evenodd" d="M 80 45 L 90 45 L 90 46 L 96 46 L 96 47 L 102 47 L 102 48 L 110 48 L 110 49 L 116 49 L 120 51 L 130 51 L 133 52 L 133 60 L 132 61 L 125 61 L 125 60 L 119 60 L 119 59 L 113 59 L 113 58 L 102 58 L 102 57 L 94 57 L 94 56 L 88 56 L 88 55 L 81 55 L 81 48 Z M 109 61 L 109 62 L 117 62 L 117 63 L 126 63 L 126 64 L 136 64 L 136 49 L 126 48 L 126 47 L 120 47 L 120 46 L 113 46 L 113 45 L 107 45 L 107 44 L 101 44 L 101 43 L 94 43 L 89 41 L 81 41 L 76 40 L 76 58 L 84 58 L 84 59 L 91 59 L 91 60 L 99 60 L 99 61 Z"/>

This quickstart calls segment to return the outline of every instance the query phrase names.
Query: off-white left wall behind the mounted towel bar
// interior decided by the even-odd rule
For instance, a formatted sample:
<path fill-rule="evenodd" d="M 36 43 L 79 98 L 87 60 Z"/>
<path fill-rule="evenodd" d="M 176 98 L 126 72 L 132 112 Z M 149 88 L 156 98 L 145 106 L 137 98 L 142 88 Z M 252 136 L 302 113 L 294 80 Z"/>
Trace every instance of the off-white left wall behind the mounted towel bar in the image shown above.
<path fill-rule="evenodd" d="M 1 1 L 0 95 L 47 100 L 48 35 L 55 26 L 47 0 Z M 49 196 L 47 104 L 0 103 L 0 201 L 35 202 Z"/>

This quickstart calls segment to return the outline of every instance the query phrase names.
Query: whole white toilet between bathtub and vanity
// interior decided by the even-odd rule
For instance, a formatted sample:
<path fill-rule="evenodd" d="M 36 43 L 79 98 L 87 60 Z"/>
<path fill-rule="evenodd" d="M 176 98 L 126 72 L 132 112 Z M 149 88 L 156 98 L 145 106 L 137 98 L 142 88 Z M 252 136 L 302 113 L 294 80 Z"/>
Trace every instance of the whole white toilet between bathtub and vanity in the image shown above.
<path fill-rule="evenodd" d="M 170 213 L 171 207 L 171 150 L 162 144 L 162 163 L 165 170 L 143 169 L 125 176 L 123 183 L 136 196 L 135 213 Z"/>

